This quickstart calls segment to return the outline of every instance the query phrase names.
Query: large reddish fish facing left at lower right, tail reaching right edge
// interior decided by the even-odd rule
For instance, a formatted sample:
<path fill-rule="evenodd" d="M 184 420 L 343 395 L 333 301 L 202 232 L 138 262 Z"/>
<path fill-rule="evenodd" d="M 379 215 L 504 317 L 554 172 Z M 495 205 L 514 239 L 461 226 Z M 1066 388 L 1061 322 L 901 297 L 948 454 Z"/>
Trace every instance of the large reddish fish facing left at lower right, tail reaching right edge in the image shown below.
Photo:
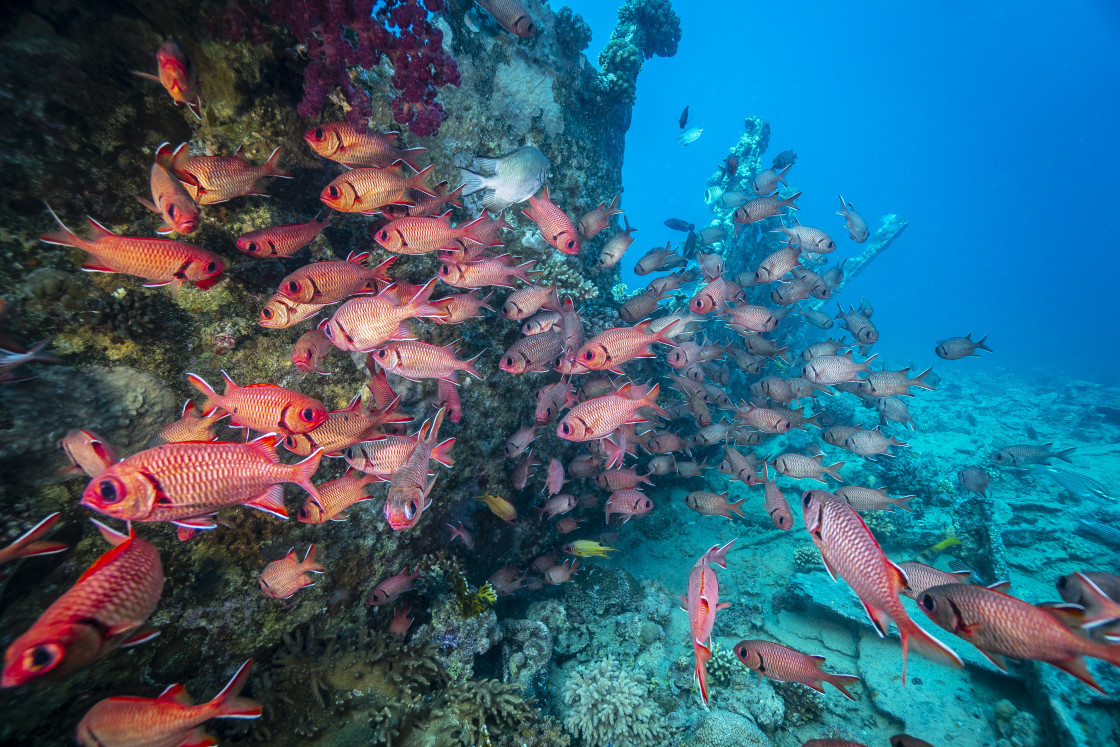
<path fill-rule="evenodd" d="M 1081 620 L 1080 611 L 1036 607 L 1002 591 L 970 583 L 926 589 L 918 595 L 917 606 L 926 617 L 971 643 L 1005 672 L 1005 656 L 1046 662 L 1104 694 L 1082 656 L 1120 666 L 1120 646 L 1092 641 L 1068 627 L 1067 622 Z"/>

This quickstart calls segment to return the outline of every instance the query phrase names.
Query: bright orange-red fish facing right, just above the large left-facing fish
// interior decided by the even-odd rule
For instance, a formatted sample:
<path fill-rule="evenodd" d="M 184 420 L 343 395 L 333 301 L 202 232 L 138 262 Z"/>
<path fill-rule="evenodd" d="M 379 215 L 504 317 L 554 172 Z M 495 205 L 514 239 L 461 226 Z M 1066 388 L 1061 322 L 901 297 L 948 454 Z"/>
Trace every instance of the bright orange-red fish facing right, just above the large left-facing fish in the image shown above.
<path fill-rule="evenodd" d="M 187 374 L 187 381 L 197 389 L 205 401 L 203 409 L 215 408 L 230 413 L 230 424 L 234 428 L 273 432 L 306 433 L 315 430 L 327 419 L 327 408 L 315 398 L 276 384 L 250 384 L 237 386 L 230 375 L 222 372 L 225 393 L 218 394 L 214 387 L 197 374 Z"/>

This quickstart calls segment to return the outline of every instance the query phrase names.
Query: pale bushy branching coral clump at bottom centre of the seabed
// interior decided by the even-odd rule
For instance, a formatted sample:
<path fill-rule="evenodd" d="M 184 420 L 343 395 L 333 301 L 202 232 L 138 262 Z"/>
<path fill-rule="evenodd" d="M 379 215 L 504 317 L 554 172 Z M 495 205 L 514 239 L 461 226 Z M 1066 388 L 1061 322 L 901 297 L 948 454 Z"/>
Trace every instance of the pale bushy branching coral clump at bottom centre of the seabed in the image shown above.
<path fill-rule="evenodd" d="M 591 747 L 663 745 L 665 718 L 647 695 L 645 675 L 613 659 L 578 669 L 563 688 L 564 727 Z"/>

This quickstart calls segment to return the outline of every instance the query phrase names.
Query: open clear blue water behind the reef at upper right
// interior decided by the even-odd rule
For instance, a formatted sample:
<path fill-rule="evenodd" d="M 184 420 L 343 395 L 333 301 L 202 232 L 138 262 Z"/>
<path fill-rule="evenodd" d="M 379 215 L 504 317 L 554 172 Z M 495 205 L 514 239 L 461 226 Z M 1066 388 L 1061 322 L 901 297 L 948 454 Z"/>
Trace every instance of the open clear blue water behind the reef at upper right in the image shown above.
<path fill-rule="evenodd" d="M 616 3 L 573 0 L 595 59 Z M 856 245 L 842 193 L 904 236 L 846 289 L 881 311 L 881 347 L 923 367 L 935 340 L 990 334 L 973 366 L 1120 381 L 1107 342 L 1120 235 L 1120 6 L 1075 0 L 897 3 L 685 1 L 676 56 L 646 60 L 626 137 L 626 208 L 645 249 L 680 241 L 668 217 L 707 224 L 706 181 L 743 131 L 771 123 L 764 158 L 799 153 L 802 223 Z M 676 144 L 681 110 L 703 128 Z M 841 236 L 843 239 L 841 240 Z M 834 307 L 833 307 L 834 308 Z M 880 321 L 881 318 L 881 321 Z"/>

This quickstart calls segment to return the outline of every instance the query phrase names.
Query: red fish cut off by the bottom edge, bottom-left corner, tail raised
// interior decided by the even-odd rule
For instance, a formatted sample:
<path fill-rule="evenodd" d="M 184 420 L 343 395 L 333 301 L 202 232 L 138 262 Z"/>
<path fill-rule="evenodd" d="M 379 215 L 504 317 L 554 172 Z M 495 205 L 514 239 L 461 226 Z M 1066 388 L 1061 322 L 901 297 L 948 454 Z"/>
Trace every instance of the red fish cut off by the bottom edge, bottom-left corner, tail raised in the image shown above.
<path fill-rule="evenodd" d="M 172 684 L 158 698 L 106 698 L 91 708 L 77 725 L 83 747 L 176 747 L 215 745 L 203 723 L 211 719 L 255 719 L 261 704 L 242 698 L 249 681 L 250 659 L 214 700 L 195 704 L 186 688 Z"/>

